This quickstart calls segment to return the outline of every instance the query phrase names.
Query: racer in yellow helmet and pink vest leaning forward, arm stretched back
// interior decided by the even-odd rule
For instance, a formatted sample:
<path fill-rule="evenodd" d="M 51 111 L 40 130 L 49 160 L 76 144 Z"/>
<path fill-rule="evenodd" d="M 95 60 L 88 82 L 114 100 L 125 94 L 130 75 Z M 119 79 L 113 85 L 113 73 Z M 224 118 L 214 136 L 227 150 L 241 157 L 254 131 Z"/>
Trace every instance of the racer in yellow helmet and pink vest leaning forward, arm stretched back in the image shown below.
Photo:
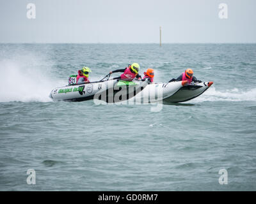
<path fill-rule="evenodd" d="M 139 69 L 140 69 L 140 65 L 138 63 L 133 63 L 133 64 L 129 64 L 127 68 L 110 71 L 109 74 L 116 73 L 116 72 L 124 72 L 120 77 L 115 77 L 113 79 L 122 79 L 126 81 L 132 81 L 135 77 L 138 79 L 141 78 L 141 76 L 138 74 Z"/>

